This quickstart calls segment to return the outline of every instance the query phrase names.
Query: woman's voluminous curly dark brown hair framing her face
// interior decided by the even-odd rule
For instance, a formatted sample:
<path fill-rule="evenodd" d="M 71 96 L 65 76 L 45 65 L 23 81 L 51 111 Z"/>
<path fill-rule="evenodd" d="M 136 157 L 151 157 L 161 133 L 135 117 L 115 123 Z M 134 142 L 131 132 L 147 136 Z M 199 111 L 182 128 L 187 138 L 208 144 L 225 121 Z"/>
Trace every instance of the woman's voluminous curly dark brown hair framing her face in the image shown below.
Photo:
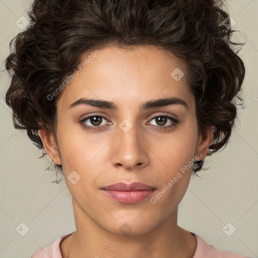
<path fill-rule="evenodd" d="M 222 1 L 36 0 L 28 15 L 27 29 L 10 42 L 5 67 L 12 81 L 6 103 L 13 109 L 15 128 L 27 130 L 42 149 L 41 157 L 46 153 L 38 130 L 44 126 L 55 135 L 61 94 L 53 100 L 47 96 L 72 74 L 83 54 L 109 45 L 152 45 L 183 60 L 199 132 L 209 125 L 215 128 L 207 155 L 227 145 L 236 100 L 243 104 L 239 93 L 245 68 L 235 49 L 238 43 L 231 40 L 234 30 L 225 26 L 230 20 Z M 193 172 L 203 164 L 195 162 Z M 62 174 L 61 165 L 52 165 L 56 175 Z"/>

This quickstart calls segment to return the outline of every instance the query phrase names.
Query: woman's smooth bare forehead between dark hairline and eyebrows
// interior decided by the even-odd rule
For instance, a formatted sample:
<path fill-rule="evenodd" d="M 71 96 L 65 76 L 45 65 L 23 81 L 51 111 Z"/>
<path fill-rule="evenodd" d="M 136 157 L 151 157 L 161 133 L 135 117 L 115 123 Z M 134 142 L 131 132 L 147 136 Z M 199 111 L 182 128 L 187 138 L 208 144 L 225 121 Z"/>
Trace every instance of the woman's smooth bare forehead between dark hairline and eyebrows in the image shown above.
<path fill-rule="evenodd" d="M 171 53 L 154 46 L 130 49 L 112 46 L 99 49 L 98 54 L 93 55 L 93 52 L 82 55 L 81 60 L 87 59 L 87 65 L 78 70 L 64 89 L 58 101 L 63 108 L 69 108 L 82 97 L 131 106 L 149 99 L 174 96 L 191 106 L 189 102 L 193 96 L 186 80 L 185 65 Z M 179 80 L 174 77 L 176 74 Z"/>

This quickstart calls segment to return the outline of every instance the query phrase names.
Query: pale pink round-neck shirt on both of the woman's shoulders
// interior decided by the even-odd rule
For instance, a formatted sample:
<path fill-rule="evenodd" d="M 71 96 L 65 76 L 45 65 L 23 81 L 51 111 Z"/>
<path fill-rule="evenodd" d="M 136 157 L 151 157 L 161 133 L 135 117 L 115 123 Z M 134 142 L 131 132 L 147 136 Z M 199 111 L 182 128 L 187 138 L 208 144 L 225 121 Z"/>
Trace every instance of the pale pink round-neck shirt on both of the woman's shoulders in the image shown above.
<path fill-rule="evenodd" d="M 217 250 L 212 245 L 208 245 L 199 235 L 192 232 L 190 233 L 197 239 L 196 251 L 192 258 L 251 258 L 230 251 Z M 35 252 L 31 258 L 62 258 L 60 242 L 71 234 L 72 233 L 57 238 L 53 243 L 46 245 L 43 249 Z"/>

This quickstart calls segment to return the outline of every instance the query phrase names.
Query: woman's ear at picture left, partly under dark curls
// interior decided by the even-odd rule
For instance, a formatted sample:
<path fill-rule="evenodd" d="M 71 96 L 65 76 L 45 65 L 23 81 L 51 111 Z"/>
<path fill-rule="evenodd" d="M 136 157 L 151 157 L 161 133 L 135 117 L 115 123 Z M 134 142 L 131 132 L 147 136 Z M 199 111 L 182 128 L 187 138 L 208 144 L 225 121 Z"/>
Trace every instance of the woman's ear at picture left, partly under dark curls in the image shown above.
<path fill-rule="evenodd" d="M 47 133 L 44 126 L 43 129 L 38 130 L 39 137 L 43 143 L 44 149 L 49 156 L 49 158 L 56 164 L 61 165 L 61 159 L 59 155 L 59 151 L 57 149 L 57 145 L 54 140 L 54 136 L 52 133 Z"/>

